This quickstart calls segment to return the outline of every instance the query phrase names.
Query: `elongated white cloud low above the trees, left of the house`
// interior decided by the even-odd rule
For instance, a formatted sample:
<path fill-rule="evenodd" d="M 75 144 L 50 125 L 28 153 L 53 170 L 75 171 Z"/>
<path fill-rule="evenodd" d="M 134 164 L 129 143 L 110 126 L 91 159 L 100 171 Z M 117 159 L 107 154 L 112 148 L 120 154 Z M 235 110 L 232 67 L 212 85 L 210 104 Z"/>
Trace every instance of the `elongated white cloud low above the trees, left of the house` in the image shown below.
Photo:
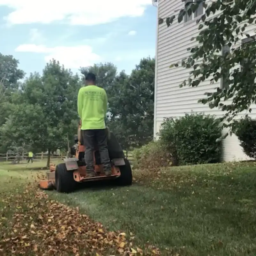
<path fill-rule="evenodd" d="M 45 45 L 21 44 L 15 51 L 44 53 L 46 62 L 53 58 L 59 60 L 66 68 L 86 67 L 101 61 L 100 56 L 93 53 L 92 47 L 88 45 L 46 47 Z"/>

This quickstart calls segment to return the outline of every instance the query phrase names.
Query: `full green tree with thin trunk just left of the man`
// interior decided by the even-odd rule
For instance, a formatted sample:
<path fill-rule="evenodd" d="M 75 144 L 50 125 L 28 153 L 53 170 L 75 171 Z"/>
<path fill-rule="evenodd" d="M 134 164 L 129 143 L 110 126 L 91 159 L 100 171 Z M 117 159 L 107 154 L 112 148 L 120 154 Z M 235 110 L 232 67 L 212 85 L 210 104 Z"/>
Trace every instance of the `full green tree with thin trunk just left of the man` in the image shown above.
<path fill-rule="evenodd" d="M 42 76 L 30 74 L 22 86 L 23 102 L 13 108 L 4 125 L 6 136 L 9 131 L 19 144 L 47 150 L 49 167 L 51 152 L 66 148 L 69 136 L 73 139 L 76 133 L 76 98 L 80 87 L 79 76 L 56 60 L 46 64 Z"/>

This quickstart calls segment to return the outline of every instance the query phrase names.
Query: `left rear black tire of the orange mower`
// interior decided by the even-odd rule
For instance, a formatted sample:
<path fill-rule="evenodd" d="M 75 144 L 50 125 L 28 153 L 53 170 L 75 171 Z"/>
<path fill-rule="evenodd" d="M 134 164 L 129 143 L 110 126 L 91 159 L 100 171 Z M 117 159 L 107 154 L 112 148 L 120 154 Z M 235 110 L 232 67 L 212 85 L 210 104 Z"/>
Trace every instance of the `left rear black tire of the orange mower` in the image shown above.
<path fill-rule="evenodd" d="M 55 170 L 55 187 L 60 193 L 70 193 L 76 189 L 72 171 L 67 171 L 66 164 L 58 164 Z"/>

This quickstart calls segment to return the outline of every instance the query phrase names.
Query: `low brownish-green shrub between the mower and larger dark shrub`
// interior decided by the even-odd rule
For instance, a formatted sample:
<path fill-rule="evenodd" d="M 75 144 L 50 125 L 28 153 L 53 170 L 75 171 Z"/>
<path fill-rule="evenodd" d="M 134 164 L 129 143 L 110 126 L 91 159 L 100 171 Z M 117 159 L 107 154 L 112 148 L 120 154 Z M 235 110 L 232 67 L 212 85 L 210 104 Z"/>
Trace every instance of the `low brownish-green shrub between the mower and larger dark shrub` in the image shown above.
<path fill-rule="evenodd" d="M 141 148 L 134 149 L 132 157 L 133 167 L 139 169 L 151 170 L 175 164 L 161 141 L 151 141 Z"/>

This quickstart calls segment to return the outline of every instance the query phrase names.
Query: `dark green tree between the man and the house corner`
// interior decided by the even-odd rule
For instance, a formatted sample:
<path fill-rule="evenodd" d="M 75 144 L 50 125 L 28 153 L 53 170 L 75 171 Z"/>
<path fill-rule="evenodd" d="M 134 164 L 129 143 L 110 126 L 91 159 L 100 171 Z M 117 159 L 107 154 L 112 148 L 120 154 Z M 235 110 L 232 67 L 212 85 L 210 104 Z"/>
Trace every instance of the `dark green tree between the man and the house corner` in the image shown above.
<path fill-rule="evenodd" d="M 116 98 L 109 103 L 110 127 L 125 149 L 153 139 L 155 59 L 144 58 L 130 76 L 122 71 L 115 80 Z"/>

